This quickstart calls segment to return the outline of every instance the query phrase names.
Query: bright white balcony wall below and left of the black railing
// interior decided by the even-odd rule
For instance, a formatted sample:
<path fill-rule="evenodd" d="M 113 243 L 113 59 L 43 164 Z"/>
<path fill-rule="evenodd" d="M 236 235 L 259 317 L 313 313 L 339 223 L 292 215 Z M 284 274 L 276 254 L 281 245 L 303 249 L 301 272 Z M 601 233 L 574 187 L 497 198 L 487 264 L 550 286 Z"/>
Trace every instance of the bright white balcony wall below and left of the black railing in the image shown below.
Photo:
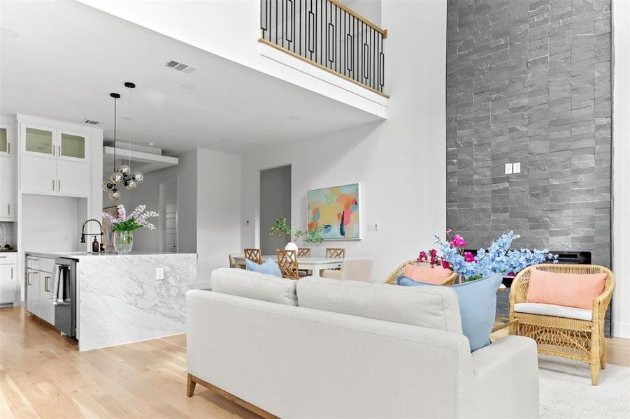
<path fill-rule="evenodd" d="M 273 47 L 260 44 L 259 0 L 78 1 L 243 66 L 387 118 L 387 98 L 289 57 Z M 371 4 L 369 7 L 374 9 L 377 6 Z M 186 57 L 170 57 L 168 51 L 164 54 L 165 63 L 169 59 L 176 59 L 194 66 L 194 62 L 187 62 Z M 387 62 L 387 47 L 385 54 Z"/>

